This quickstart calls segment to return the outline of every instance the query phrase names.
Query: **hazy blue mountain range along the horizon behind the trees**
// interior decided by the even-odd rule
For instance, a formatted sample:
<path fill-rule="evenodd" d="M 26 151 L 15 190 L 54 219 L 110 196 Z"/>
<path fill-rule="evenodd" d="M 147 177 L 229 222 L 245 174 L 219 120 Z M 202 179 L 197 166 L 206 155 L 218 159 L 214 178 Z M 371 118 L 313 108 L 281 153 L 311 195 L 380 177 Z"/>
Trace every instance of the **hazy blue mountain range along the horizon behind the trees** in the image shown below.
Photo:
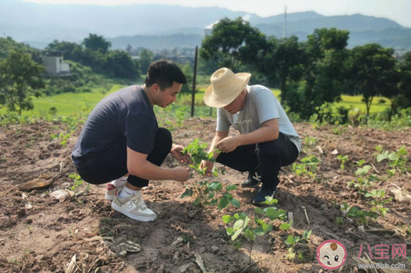
<path fill-rule="evenodd" d="M 204 29 L 221 18 L 242 17 L 268 36 L 282 37 L 284 14 L 260 17 L 217 7 L 190 8 L 165 4 L 93 6 L 79 4 L 34 4 L 0 0 L 0 34 L 44 48 L 53 40 L 80 43 L 89 33 L 112 42 L 112 48 L 127 44 L 151 49 L 201 45 Z M 350 31 L 348 47 L 380 43 L 393 48 L 411 48 L 411 28 L 388 18 L 323 16 L 314 11 L 287 14 L 286 35 L 300 40 L 315 28 Z"/>

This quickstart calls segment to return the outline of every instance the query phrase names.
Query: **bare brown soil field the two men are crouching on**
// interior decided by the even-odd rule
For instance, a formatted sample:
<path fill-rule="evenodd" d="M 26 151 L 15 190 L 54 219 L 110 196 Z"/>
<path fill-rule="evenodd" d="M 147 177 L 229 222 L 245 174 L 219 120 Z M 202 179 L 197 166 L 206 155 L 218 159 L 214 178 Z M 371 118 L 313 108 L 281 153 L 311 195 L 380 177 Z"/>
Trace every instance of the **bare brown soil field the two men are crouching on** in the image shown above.
<path fill-rule="evenodd" d="M 361 246 L 363 253 L 367 245 L 402 244 L 410 248 L 410 203 L 389 199 L 398 188 L 405 196 L 411 193 L 410 173 L 397 171 L 392 177 L 388 176 L 388 162 L 376 161 L 375 146 L 388 151 L 406 146 L 405 168 L 410 168 L 411 130 L 385 132 L 331 126 L 313 129 L 306 123 L 295 124 L 295 128 L 304 139 L 297 164 L 302 164 L 310 155 L 321 162 L 315 170 L 311 169 L 311 174 L 297 175 L 291 166 L 282 168 L 281 183 L 274 196 L 278 203 L 274 206 L 285 210 L 287 215 L 292 213 L 292 228 L 280 228 L 289 223 L 289 219 L 270 221 L 272 231 L 257 237 L 250 258 L 250 243 L 243 240 L 243 247 L 235 250 L 225 231 L 232 224 L 225 225 L 222 221 L 223 215 L 242 212 L 254 218 L 255 206 L 250 201 L 256 192 L 239 186 L 247 173 L 228 169 L 225 175 L 218 177 L 223 186 L 239 186 L 232 194 L 241 205 L 240 208 L 229 205 L 221 211 L 211 205 L 193 205 L 189 197 L 180 198 L 186 186 L 203 180 L 197 174 L 186 183 L 151 181 L 144 188 L 143 196 L 149 208 L 156 211 L 157 220 L 142 223 L 112 210 L 110 202 L 104 200 L 105 185 L 88 186 L 77 181 L 74 186 L 75 178 L 70 175 L 76 171 L 70 152 L 80 127 L 63 145 L 61 139 L 51 136 L 65 134 L 66 124 L 38 121 L 2 127 L 0 271 L 63 273 L 75 255 L 77 272 L 201 273 L 203 270 L 196 263 L 198 257 L 207 272 L 215 273 L 324 272 L 316 260 L 316 250 L 321 242 L 332 239 L 345 245 L 348 252 L 346 263 L 338 272 L 365 272 L 358 271 L 353 259 L 358 257 Z M 172 135 L 176 144 L 187 145 L 196 138 L 209 143 L 214 130 L 214 119 L 192 118 L 174 129 Z M 338 155 L 348 156 L 344 169 Z M 365 160 L 363 166 L 372 166 L 368 175 L 378 177 L 368 191 L 385 190 L 387 196 L 365 198 L 358 188 L 348 187 L 347 182 L 358 181 L 357 162 L 362 159 Z M 172 168 L 178 166 L 178 162 L 169 157 L 164 166 Z M 52 183 L 40 190 L 18 190 L 21 184 L 33 179 Z M 75 196 L 60 202 L 51 196 L 59 189 L 73 189 Z M 371 212 L 376 206 L 371 204 L 373 201 L 385 202 L 383 208 L 388 209 L 385 216 L 380 210 L 375 217 L 364 218 L 341 210 L 341 205 L 346 203 L 348 208 Z M 290 235 L 302 238 L 304 231 L 309 230 L 312 232 L 309 240 L 297 242 L 296 257 L 288 259 L 287 238 Z M 140 250 L 130 250 L 122 257 L 119 254 L 129 242 L 139 245 Z M 252 265 L 248 267 L 250 262 Z M 410 272 L 410 262 L 402 257 L 383 262 L 407 264 L 407 269 L 399 272 Z"/>

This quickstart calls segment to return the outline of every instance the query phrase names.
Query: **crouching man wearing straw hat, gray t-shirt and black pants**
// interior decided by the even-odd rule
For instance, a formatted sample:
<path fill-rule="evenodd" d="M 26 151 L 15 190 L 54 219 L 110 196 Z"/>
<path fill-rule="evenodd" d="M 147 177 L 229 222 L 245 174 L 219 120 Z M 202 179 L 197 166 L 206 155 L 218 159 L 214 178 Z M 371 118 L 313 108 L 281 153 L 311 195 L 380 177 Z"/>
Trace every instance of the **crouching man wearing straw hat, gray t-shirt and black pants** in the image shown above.
<path fill-rule="evenodd" d="M 262 205 L 265 196 L 274 196 L 282 166 L 296 161 L 301 140 L 287 114 L 271 90 L 262 85 L 247 85 L 250 73 L 234 74 L 221 68 L 211 76 L 204 102 L 217 110 L 217 129 L 210 145 L 217 162 L 237 171 L 249 171 L 244 188 L 262 186 L 252 200 Z M 230 126 L 240 132 L 228 136 Z M 201 162 L 208 175 L 213 162 Z"/>

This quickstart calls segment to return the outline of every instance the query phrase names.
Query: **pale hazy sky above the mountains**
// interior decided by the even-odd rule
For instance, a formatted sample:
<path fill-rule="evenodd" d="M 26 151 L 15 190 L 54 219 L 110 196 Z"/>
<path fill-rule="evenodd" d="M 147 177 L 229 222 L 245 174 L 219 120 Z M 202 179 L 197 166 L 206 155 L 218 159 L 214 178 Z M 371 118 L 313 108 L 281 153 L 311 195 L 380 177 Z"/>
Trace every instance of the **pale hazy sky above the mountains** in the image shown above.
<path fill-rule="evenodd" d="M 48 4 L 169 4 L 180 6 L 218 6 L 246 11 L 262 17 L 297 11 L 316 11 L 326 16 L 363 14 L 390 18 L 411 27 L 411 0 L 26 0 Z"/>

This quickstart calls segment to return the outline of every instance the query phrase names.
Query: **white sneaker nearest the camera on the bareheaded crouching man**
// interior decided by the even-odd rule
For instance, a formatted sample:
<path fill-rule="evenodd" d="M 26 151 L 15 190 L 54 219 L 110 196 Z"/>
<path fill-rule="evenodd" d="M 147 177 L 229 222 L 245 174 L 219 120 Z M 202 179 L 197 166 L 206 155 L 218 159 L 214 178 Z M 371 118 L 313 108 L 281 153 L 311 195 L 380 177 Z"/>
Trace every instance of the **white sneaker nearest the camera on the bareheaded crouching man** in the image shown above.
<path fill-rule="evenodd" d="M 156 220 L 156 213 L 147 208 L 140 191 L 126 198 L 119 198 L 118 193 L 119 191 L 117 190 L 112 201 L 112 208 L 114 210 L 138 221 L 149 222 Z"/>

